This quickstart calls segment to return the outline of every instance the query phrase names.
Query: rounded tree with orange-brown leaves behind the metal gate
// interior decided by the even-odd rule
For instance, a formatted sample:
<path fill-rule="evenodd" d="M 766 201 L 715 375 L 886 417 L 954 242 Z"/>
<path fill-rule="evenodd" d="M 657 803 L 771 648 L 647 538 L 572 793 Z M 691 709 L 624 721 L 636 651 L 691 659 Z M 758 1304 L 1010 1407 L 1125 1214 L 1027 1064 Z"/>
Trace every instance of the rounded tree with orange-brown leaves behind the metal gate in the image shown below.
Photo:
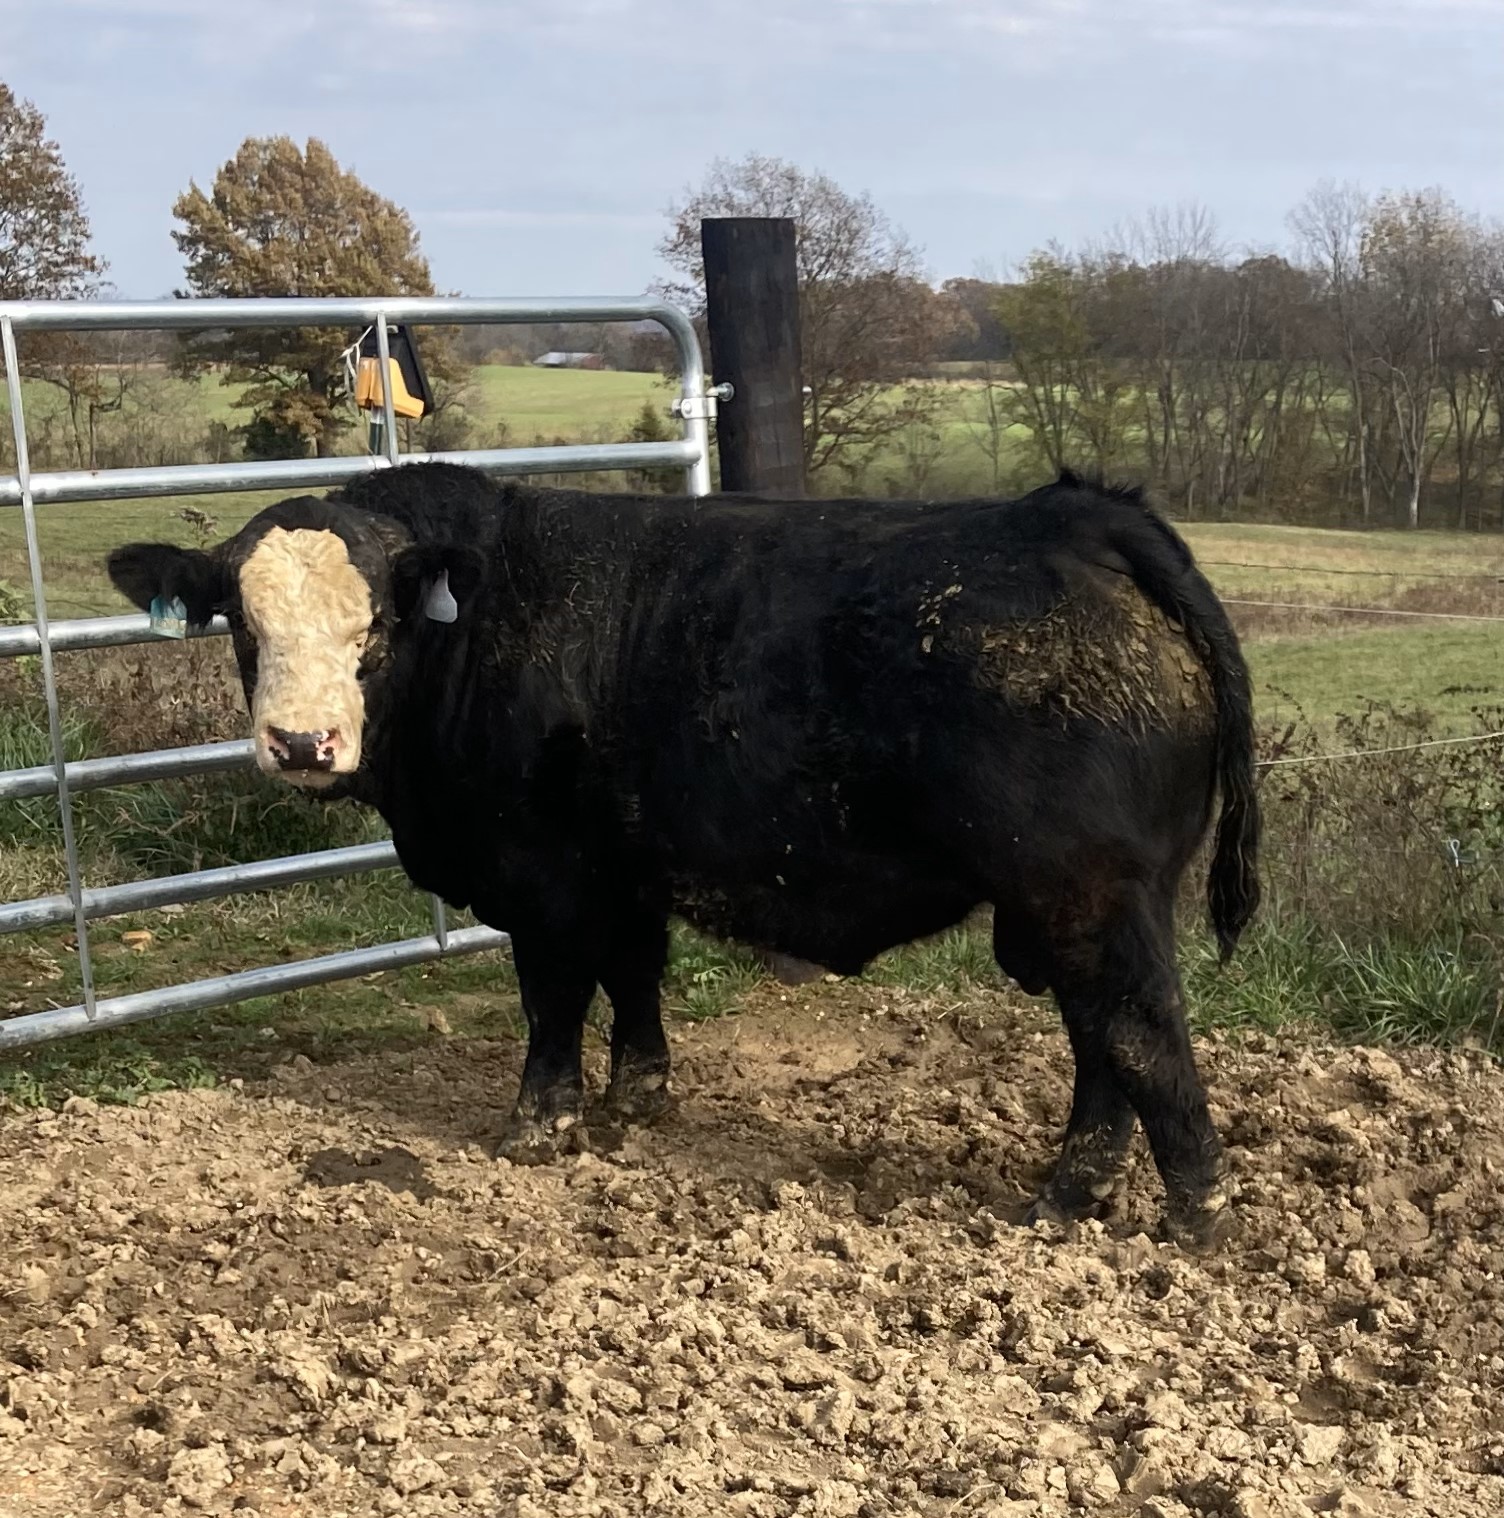
<path fill-rule="evenodd" d="M 196 296 L 433 294 L 428 261 L 408 214 L 376 194 L 316 138 L 307 149 L 287 137 L 247 138 L 214 176 L 178 197 L 173 232 Z M 190 369 L 223 366 L 223 383 L 243 386 L 238 407 L 253 413 L 264 443 L 300 437 L 332 454 L 352 416 L 337 408 L 345 390 L 340 354 L 349 332 L 326 328 L 208 334 L 184 351 Z M 429 378 L 455 380 L 451 342 L 423 332 Z"/>

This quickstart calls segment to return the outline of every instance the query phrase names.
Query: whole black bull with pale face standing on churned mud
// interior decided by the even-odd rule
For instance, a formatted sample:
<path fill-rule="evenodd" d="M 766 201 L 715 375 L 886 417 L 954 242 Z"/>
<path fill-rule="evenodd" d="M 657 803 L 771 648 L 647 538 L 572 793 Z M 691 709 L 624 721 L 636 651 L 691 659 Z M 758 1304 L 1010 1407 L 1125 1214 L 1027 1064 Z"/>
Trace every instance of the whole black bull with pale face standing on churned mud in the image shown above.
<path fill-rule="evenodd" d="M 247 698 L 279 630 L 247 624 L 244 566 L 273 527 L 297 563 L 358 571 L 370 625 L 349 654 L 363 730 L 319 723 L 297 759 L 270 727 L 267 751 L 299 771 L 317 748 L 325 794 L 375 806 L 419 887 L 511 934 L 530 1040 L 505 1143 L 548 1152 L 577 1123 L 598 987 L 607 1102 L 665 1101 L 674 914 L 851 975 L 991 903 L 999 965 L 1055 993 L 1076 1061 L 1037 1213 L 1103 1208 L 1137 1116 L 1170 1231 L 1220 1234 L 1173 903 L 1220 791 L 1225 955 L 1254 914 L 1249 682 L 1137 492 L 686 501 L 414 465 L 284 501 L 208 554 L 114 553 L 137 604 L 231 616 Z M 308 574 L 278 616 L 323 625 Z M 442 574 L 448 622 L 425 615 Z M 358 748 L 346 777 L 337 744 Z"/>

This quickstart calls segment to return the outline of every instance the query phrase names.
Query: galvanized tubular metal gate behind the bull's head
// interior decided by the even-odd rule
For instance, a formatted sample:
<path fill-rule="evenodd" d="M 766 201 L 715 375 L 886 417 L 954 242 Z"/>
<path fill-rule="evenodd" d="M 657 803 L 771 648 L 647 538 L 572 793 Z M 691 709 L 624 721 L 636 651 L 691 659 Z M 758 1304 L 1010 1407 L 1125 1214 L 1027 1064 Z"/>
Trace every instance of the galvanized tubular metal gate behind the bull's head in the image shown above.
<path fill-rule="evenodd" d="M 47 616 L 41 551 L 36 537 L 36 507 L 64 501 L 143 499 L 164 495 L 212 495 L 226 490 L 297 490 L 337 486 L 372 469 L 398 463 L 398 433 L 390 392 L 385 392 L 387 452 L 382 457 L 290 458 L 264 463 L 179 465 L 150 469 L 85 469 L 49 474 L 30 472 L 17 334 L 36 331 L 161 331 L 222 329 L 250 326 L 375 326 L 382 384 L 389 373 L 389 332 L 393 323 L 477 325 L 521 322 L 640 322 L 663 326 L 678 355 L 680 399 L 674 410 L 684 436 L 662 443 L 589 443 L 558 448 L 492 448 L 448 454 L 408 454 L 405 461 L 446 458 L 498 475 L 568 474 L 595 469 L 680 468 L 689 495 L 710 490 L 709 417 L 715 402 L 706 395 L 704 361 L 689 319 L 677 307 L 651 299 L 624 301 L 492 301 L 492 299 L 267 299 L 267 301 L 143 301 L 143 302 L 0 302 L 0 349 L 11 401 L 15 436 L 14 475 L 0 475 L 0 509 L 20 507 L 26 530 L 36 621 L 32 625 L 0 627 L 0 657 L 39 654 L 47 698 L 52 764 L 0 771 L 0 802 L 53 794 L 62 820 L 67 856 L 67 894 L 29 902 L 0 903 L 0 934 L 73 923 L 83 1000 L 41 1013 L 0 1020 L 0 1049 L 62 1038 L 96 1028 L 112 1028 L 161 1017 L 167 1013 L 199 1011 L 253 996 L 273 996 L 325 981 L 395 970 L 428 959 L 474 953 L 507 943 L 505 934 L 489 927 L 451 931 L 443 905 L 434 900 L 434 932 L 422 938 L 384 943 L 367 949 L 322 955 L 291 964 L 264 965 L 205 981 L 99 999 L 94 994 L 88 924 L 100 917 L 144 911 L 185 902 L 200 902 L 244 891 L 261 891 L 304 880 L 392 868 L 398 864 L 390 842 L 360 844 L 263 859 L 222 870 L 132 880 L 90 888 L 79 867 L 71 797 L 77 791 L 144 780 L 209 774 L 244 768 L 252 745 L 243 742 L 196 744 L 153 753 L 114 754 L 67 762 L 62 713 L 53 656 L 79 648 L 109 648 L 155 642 L 149 619 L 135 616 L 90 616 L 53 622 Z M 202 636 L 223 636 L 223 619 Z"/>

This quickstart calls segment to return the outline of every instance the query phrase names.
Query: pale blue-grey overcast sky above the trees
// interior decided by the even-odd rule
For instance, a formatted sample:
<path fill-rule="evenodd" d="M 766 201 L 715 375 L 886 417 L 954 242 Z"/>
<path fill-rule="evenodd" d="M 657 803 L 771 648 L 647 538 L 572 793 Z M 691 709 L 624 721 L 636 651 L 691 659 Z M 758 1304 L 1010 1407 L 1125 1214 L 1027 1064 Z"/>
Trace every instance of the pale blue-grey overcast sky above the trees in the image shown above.
<path fill-rule="evenodd" d="M 625 294 L 756 150 L 867 190 L 936 278 L 1199 200 L 1287 240 L 1320 178 L 1504 214 L 1504 0 L 0 0 L 124 296 L 247 135 L 323 138 L 440 288 Z"/>

